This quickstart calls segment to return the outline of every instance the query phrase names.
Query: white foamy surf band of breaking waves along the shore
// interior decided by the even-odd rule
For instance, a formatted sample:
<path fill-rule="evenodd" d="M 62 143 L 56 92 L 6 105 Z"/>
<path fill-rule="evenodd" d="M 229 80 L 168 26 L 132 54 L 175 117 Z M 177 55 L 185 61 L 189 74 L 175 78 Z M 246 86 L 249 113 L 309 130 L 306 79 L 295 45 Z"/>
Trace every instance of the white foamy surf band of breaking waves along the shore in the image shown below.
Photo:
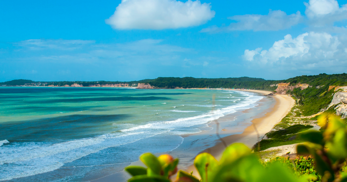
<path fill-rule="evenodd" d="M 200 132 L 200 129 L 192 126 L 206 126 L 205 124 L 209 121 L 234 113 L 237 110 L 249 109 L 254 107 L 256 105 L 255 102 L 262 98 L 262 96 L 257 96 L 252 93 L 238 93 L 245 97 L 240 97 L 240 102 L 231 106 L 185 104 L 197 107 L 223 108 L 218 108 L 214 111 L 208 111 L 192 117 L 177 118 L 169 121 L 150 122 L 143 125 L 129 124 L 129 128 L 127 129 L 97 137 L 56 143 L 11 142 L 11 145 L 3 145 L 8 143 L 8 141 L 2 140 L 0 141 L 0 165 L 6 165 L 6 168 L 3 168 L 5 170 L 3 170 L 3 173 L 0 175 L 0 181 L 53 171 L 64 166 L 66 163 L 96 153 L 100 150 L 129 144 L 161 133 L 167 133 L 168 135 L 183 135 Z M 171 112 L 192 111 L 171 110 Z"/>

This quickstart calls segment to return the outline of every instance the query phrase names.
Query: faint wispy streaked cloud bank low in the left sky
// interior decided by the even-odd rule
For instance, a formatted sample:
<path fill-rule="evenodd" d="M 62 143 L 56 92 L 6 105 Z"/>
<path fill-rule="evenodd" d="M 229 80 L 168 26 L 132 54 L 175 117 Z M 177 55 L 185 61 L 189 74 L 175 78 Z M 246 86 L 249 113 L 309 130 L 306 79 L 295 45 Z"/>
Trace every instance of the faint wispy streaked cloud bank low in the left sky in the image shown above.
<path fill-rule="evenodd" d="M 13 43 L 21 51 L 17 61 L 59 63 L 113 62 L 121 65 L 171 64 L 193 49 L 164 44 L 163 40 L 143 39 L 127 43 L 96 43 L 93 40 L 26 40 Z M 25 55 L 22 57 L 21 55 Z"/>

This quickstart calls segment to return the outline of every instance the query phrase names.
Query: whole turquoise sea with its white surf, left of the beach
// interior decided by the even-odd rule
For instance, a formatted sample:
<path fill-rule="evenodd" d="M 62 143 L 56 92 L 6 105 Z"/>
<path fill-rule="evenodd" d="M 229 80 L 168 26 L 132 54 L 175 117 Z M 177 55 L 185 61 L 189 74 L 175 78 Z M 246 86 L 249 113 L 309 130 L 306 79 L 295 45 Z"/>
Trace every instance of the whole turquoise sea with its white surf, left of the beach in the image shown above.
<path fill-rule="evenodd" d="M 179 135 L 261 98 L 234 90 L 0 87 L 0 180 L 97 179 L 144 152 L 175 149 Z"/>

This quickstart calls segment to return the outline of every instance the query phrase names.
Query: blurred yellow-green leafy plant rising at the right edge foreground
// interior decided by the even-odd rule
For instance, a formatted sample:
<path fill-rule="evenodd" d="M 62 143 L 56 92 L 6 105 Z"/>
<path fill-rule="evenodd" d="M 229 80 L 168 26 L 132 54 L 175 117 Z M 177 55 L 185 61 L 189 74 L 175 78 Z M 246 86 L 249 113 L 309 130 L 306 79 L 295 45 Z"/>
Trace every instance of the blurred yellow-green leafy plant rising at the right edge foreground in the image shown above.
<path fill-rule="evenodd" d="M 344 171 L 347 158 L 347 127 L 337 116 L 324 114 L 318 119 L 322 131 L 307 131 L 301 138 L 307 143 L 298 145 L 299 154 L 315 159 L 316 171 L 322 181 L 347 181 Z"/>

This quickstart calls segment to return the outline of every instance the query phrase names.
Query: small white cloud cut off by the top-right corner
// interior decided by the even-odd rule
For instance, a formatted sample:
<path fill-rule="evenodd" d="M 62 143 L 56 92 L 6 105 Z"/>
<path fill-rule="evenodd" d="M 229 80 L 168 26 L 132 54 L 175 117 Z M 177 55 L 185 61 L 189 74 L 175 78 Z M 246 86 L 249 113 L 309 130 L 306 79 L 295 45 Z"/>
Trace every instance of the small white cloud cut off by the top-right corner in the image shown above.
<path fill-rule="evenodd" d="M 304 4 L 307 18 L 315 26 L 333 24 L 347 19 L 347 4 L 340 7 L 336 0 L 310 0 Z"/>

